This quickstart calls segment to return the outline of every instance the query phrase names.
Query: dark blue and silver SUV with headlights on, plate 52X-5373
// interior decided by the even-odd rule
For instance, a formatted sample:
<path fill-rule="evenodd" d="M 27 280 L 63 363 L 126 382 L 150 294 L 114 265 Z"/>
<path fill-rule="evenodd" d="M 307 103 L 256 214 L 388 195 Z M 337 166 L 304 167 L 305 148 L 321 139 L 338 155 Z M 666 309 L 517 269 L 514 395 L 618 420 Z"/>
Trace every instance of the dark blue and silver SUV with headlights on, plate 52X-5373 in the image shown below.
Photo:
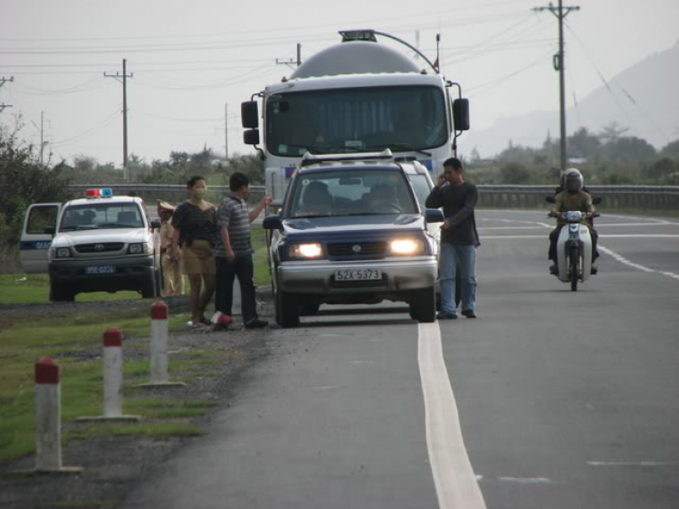
<path fill-rule="evenodd" d="M 390 152 L 307 155 L 276 216 L 269 252 L 276 321 L 295 327 L 320 304 L 409 304 L 418 322 L 436 315 L 440 210 L 426 210 L 424 166 Z"/>

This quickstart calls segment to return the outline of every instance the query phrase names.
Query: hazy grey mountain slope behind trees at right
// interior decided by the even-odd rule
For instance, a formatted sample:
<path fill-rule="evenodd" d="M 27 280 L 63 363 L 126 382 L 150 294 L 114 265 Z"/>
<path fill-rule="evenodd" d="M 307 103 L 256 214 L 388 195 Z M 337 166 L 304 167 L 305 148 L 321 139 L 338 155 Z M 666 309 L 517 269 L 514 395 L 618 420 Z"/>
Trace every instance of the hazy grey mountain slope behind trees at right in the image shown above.
<path fill-rule="evenodd" d="M 569 135 L 582 127 L 598 133 L 617 122 L 628 128 L 625 136 L 646 139 L 656 149 L 679 139 L 679 41 L 654 53 L 588 94 L 567 110 Z M 567 90 L 567 96 L 569 91 Z M 487 130 L 470 131 L 464 137 L 464 153 L 476 147 L 483 158 L 514 145 L 540 147 L 547 138 L 559 138 L 559 110 L 533 111 L 497 120 Z M 569 154 L 574 155 L 574 154 Z"/>

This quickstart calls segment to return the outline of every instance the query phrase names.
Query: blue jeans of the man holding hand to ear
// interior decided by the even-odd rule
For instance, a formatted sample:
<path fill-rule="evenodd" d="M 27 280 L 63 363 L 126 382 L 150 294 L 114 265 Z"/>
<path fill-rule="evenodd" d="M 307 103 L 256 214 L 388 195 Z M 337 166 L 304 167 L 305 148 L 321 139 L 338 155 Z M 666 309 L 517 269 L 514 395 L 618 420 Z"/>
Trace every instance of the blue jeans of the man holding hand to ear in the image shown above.
<path fill-rule="evenodd" d="M 460 297 L 463 311 L 476 307 L 476 247 L 441 243 L 438 271 L 441 280 L 441 311 L 457 314 L 455 275 L 460 267 Z"/>

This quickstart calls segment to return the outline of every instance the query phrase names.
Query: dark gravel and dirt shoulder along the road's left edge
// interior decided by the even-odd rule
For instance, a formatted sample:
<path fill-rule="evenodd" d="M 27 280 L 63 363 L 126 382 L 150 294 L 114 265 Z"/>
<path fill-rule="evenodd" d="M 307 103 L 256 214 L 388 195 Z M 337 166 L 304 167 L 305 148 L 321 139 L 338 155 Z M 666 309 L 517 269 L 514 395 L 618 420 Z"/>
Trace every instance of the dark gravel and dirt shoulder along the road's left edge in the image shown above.
<path fill-rule="evenodd" d="M 260 315 L 273 322 L 270 293 L 259 293 Z M 170 312 L 184 311 L 182 303 L 170 303 Z M 0 310 L 0 315 L 7 310 Z M 24 310 L 26 312 L 26 310 Z M 30 311 L 29 311 L 30 312 Z M 126 338 L 126 344 L 148 339 Z M 267 329 L 244 330 L 239 317 L 228 331 L 207 333 L 171 331 L 169 338 L 170 358 L 181 356 L 191 349 L 228 350 L 224 362 L 207 364 L 202 373 L 193 375 L 183 388 L 148 389 L 144 397 L 177 399 L 181 401 L 214 401 L 214 408 L 206 408 L 201 418 L 187 422 L 204 427 L 212 415 L 227 408 L 238 384 L 246 371 L 276 349 Z M 148 350 L 123 348 L 124 356 L 139 359 L 148 356 Z M 170 373 L 181 376 L 181 373 Z M 62 398 L 65 395 L 62 394 Z M 79 426 L 65 423 L 62 432 Z M 0 463 L 0 507 L 4 509 L 68 508 L 110 509 L 116 507 L 136 485 L 143 484 L 156 466 L 173 456 L 180 447 L 200 440 L 201 437 L 98 437 L 71 440 L 62 447 L 63 466 L 81 466 L 80 474 L 16 475 L 17 470 L 30 470 L 35 464 L 34 456 Z"/>

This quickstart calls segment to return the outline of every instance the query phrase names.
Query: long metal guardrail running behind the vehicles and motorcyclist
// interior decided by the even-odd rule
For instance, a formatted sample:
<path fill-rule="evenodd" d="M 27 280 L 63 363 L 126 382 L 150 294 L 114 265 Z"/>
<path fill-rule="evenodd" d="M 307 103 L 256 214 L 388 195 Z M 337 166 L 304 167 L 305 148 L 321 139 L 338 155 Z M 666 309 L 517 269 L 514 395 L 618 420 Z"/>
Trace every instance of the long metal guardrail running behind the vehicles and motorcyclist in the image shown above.
<path fill-rule="evenodd" d="M 186 199 L 186 187 L 170 184 L 110 184 L 72 185 L 73 191 L 84 193 L 91 187 L 111 187 L 114 194 L 135 193 L 148 202 L 162 199 L 177 203 Z M 263 186 L 251 186 L 251 203 L 262 198 Z M 590 186 L 596 197 L 602 197 L 599 208 L 607 210 L 637 209 L 679 211 L 679 186 Z M 541 208 L 545 197 L 554 194 L 553 186 L 490 186 L 479 185 L 479 207 L 484 208 Z M 228 193 L 228 186 L 209 186 L 207 199 L 218 203 Z"/>

